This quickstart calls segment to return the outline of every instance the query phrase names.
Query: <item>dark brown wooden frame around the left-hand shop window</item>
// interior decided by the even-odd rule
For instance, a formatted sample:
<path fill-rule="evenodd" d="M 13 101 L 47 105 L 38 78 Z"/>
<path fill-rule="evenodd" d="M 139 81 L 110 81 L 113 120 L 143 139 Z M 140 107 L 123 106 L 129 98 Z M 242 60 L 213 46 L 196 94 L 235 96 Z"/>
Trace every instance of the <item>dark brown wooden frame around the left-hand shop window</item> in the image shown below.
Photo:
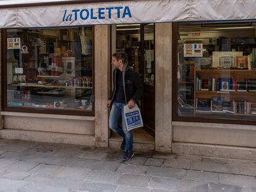
<path fill-rule="evenodd" d="M 93 81 L 93 100 L 95 100 L 95 27 L 92 27 L 93 44 L 92 44 L 92 81 Z M 63 27 L 61 27 L 63 28 Z M 64 27 L 72 28 L 72 27 Z M 32 107 L 8 107 L 7 106 L 7 29 L 1 29 L 1 111 L 6 112 L 27 112 L 37 114 L 56 114 L 56 115 L 81 115 L 95 116 L 95 101 L 93 101 L 92 111 L 66 110 L 66 109 L 43 109 Z M 30 28 L 33 29 L 33 28 Z M 48 28 L 46 28 L 48 29 Z"/>

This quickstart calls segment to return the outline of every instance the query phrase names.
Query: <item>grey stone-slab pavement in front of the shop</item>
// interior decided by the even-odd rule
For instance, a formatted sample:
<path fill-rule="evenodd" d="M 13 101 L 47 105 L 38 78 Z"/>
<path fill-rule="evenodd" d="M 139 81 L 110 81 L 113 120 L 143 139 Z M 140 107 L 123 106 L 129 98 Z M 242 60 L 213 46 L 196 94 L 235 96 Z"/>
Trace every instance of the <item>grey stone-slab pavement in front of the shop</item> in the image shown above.
<path fill-rule="evenodd" d="M 1 192 L 256 192 L 256 161 L 0 139 Z"/>

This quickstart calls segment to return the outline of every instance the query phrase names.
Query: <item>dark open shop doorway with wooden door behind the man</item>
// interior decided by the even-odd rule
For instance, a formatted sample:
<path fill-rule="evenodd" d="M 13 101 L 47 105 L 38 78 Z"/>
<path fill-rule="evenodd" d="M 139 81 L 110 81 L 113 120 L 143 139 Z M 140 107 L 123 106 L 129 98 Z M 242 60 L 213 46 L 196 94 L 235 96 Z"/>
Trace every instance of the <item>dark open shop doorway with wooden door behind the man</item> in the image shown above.
<path fill-rule="evenodd" d="M 116 25 L 119 51 L 126 52 L 129 67 L 139 73 L 144 89 L 140 99 L 143 130 L 155 137 L 155 24 Z"/>

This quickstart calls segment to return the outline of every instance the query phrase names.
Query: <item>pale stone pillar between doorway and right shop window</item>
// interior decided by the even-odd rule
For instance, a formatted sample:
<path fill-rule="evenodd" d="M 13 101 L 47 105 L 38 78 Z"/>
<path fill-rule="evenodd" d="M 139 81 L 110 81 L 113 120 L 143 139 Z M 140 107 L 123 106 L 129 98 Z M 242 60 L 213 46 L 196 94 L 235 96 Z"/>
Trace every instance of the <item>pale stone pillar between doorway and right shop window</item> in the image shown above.
<path fill-rule="evenodd" d="M 155 148 L 171 152 L 172 143 L 172 25 L 155 26 Z"/>

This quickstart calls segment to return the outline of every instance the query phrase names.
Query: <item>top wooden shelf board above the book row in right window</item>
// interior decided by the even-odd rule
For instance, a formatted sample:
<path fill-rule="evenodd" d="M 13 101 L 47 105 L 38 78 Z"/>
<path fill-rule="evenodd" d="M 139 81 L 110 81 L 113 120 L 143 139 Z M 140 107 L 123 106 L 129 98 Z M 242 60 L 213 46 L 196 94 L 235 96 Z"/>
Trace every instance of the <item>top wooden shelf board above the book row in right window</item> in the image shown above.
<path fill-rule="evenodd" d="M 245 75 L 255 75 L 256 70 L 246 70 L 246 69 L 196 69 L 196 73 L 202 73 L 202 74 L 223 74 L 223 73 L 239 73 L 239 74 L 245 74 Z"/>

